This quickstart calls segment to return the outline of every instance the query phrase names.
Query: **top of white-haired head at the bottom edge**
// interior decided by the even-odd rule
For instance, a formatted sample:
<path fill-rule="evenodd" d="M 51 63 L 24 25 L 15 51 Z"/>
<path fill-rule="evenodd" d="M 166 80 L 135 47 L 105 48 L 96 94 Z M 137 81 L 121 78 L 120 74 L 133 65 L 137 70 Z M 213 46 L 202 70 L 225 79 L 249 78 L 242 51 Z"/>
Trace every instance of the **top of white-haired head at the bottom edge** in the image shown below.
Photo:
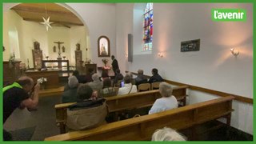
<path fill-rule="evenodd" d="M 186 141 L 186 138 L 176 130 L 164 127 L 154 131 L 151 141 Z"/>

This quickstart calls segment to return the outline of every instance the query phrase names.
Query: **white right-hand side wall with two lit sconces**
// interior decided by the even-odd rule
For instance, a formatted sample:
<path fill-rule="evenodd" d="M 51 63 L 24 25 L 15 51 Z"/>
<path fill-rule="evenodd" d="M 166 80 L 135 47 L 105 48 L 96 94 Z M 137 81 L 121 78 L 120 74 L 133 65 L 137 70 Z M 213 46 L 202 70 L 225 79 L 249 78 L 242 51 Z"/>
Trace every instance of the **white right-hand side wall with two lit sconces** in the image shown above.
<path fill-rule="evenodd" d="M 212 22 L 212 8 L 244 8 L 247 22 Z M 117 5 L 117 45 L 126 47 L 118 38 L 126 38 L 134 26 L 127 17 L 133 10 L 131 4 Z M 176 82 L 202 86 L 230 94 L 253 98 L 253 6 L 251 4 L 154 4 L 154 39 L 152 54 L 136 54 L 134 61 L 123 63 L 122 70 L 136 72 L 139 68 L 151 75 L 152 68 L 158 68 L 163 78 Z M 127 19 L 126 19 L 127 18 Z M 123 25 L 122 23 L 126 23 Z M 197 52 L 180 52 L 182 41 L 201 39 Z M 234 57 L 230 48 L 238 48 L 240 54 Z M 135 49 L 141 47 L 134 46 Z M 125 49 L 126 50 L 126 49 Z M 122 54 L 125 50 L 117 50 Z M 164 58 L 158 57 L 163 52 Z M 190 100 L 202 102 L 214 98 L 192 92 Z M 231 125 L 253 134 L 252 105 L 234 102 Z M 247 110 L 246 110 L 247 109 Z"/>

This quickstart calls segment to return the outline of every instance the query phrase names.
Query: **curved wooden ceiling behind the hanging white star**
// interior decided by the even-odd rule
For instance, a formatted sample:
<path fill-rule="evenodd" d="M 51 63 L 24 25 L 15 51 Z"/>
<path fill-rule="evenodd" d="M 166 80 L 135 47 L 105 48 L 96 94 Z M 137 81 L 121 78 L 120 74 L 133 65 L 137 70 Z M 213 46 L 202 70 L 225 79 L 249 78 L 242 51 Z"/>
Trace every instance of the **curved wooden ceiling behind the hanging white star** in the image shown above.
<path fill-rule="evenodd" d="M 42 17 L 54 22 L 51 26 L 84 26 L 80 19 L 65 7 L 55 3 L 22 3 L 11 8 L 25 21 L 43 22 Z"/>

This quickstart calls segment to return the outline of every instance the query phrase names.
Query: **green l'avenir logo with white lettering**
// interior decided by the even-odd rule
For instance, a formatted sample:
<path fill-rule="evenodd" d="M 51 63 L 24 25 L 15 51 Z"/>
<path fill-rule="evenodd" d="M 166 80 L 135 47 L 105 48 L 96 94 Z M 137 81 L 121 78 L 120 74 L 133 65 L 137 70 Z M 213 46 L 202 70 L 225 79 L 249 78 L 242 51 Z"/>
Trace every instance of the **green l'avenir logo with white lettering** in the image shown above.
<path fill-rule="evenodd" d="M 216 22 L 220 22 L 220 21 L 246 22 L 246 10 L 244 9 L 212 9 L 211 18 L 213 21 L 216 21 Z"/>

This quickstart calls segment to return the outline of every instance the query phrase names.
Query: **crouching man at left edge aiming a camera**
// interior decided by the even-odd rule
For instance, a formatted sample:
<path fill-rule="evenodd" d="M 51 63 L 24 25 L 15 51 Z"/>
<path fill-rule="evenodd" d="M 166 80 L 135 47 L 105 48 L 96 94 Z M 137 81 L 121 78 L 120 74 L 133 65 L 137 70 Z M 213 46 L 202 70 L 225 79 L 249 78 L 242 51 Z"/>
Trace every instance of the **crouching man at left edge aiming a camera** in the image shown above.
<path fill-rule="evenodd" d="M 16 108 L 33 110 L 38 105 L 38 92 L 40 84 L 34 86 L 33 79 L 27 76 L 18 78 L 10 86 L 2 89 L 3 93 L 3 124 Z M 33 92 L 34 91 L 34 92 Z M 30 92 L 31 95 L 28 93 Z M 11 134 L 3 130 L 3 140 L 12 140 Z"/>

